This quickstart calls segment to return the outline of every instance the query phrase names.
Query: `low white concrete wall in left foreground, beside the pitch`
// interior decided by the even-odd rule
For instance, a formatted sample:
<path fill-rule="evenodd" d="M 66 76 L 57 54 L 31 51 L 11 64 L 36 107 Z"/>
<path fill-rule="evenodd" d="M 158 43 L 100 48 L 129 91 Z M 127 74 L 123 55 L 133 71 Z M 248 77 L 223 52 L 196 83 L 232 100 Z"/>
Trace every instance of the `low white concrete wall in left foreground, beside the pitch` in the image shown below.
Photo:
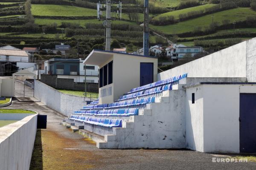
<path fill-rule="evenodd" d="M 0 169 L 29 170 L 37 130 L 37 114 L 0 127 Z"/>

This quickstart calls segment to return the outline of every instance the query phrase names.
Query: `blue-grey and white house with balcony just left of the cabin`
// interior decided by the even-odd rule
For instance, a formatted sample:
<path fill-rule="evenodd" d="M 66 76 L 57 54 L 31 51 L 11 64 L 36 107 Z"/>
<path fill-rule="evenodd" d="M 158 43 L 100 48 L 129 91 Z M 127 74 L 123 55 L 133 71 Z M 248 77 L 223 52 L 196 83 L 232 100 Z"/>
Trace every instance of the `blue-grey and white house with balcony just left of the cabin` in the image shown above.
<path fill-rule="evenodd" d="M 58 79 L 74 79 L 84 82 L 85 70 L 82 59 L 52 58 L 44 62 L 45 74 L 56 75 Z M 86 82 L 98 83 L 99 68 L 86 65 Z"/>

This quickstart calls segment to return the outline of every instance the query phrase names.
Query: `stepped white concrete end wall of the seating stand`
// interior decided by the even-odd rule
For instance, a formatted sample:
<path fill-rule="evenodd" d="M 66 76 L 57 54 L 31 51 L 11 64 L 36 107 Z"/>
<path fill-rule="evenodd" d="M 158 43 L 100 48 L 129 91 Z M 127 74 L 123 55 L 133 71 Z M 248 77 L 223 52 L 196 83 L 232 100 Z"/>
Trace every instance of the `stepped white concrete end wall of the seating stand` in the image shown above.
<path fill-rule="evenodd" d="M 162 98 L 148 104 L 134 116 L 133 122 L 122 122 L 113 128 L 114 139 L 97 142 L 99 148 L 184 148 L 185 91 L 164 91 Z M 119 118 L 120 119 L 120 118 Z"/>

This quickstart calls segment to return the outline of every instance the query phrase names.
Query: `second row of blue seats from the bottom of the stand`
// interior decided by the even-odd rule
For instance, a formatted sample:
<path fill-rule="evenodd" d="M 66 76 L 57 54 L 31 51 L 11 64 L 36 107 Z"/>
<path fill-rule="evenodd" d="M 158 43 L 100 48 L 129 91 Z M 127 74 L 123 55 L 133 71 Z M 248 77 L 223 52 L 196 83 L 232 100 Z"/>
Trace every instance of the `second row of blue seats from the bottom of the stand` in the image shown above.
<path fill-rule="evenodd" d="M 95 115 L 95 116 L 133 116 L 138 115 L 138 108 L 112 109 L 103 111 L 74 111 L 74 115 Z"/>

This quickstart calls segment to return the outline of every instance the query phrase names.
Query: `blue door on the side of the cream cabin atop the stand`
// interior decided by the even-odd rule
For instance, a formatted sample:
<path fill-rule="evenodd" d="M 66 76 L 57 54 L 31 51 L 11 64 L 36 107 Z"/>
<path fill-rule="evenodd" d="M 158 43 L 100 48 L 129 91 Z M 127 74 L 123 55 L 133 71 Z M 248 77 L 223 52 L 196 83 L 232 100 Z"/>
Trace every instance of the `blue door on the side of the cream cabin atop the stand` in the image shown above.
<path fill-rule="evenodd" d="M 140 63 L 140 86 L 147 85 L 153 82 L 153 63 Z"/>

